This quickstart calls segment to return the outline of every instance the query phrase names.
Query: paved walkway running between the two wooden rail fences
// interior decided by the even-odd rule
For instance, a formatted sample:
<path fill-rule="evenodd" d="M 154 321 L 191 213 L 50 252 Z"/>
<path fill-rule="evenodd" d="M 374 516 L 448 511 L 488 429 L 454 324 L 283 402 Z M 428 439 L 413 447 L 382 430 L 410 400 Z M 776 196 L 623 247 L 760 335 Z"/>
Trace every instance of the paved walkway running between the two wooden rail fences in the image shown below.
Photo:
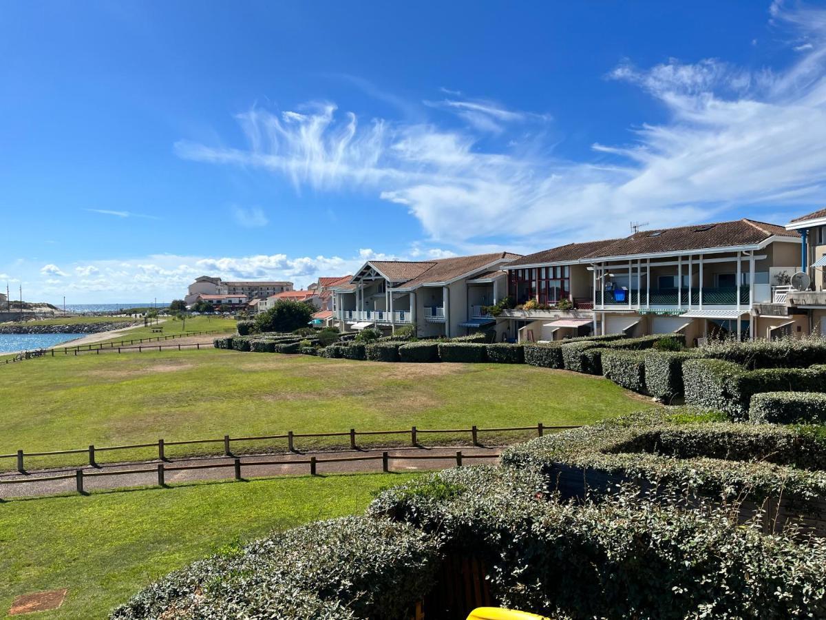
<path fill-rule="evenodd" d="M 379 472 L 382 471 L 382 452 L 389 455 L 390 471 L 444 470 L 456 465 L 456 452 L 462 451 L 463 465 L 494 463 L 501 453 L 501 447 L 465 447 L 451 446 L 438 448 L 378 448 L 363 451 L 325 451 L 292 454 L 239 455 L 243 478 L 257 478 L 279 475 L 307 475 L 310 465 L 306 462 L 316 457 L 316 475 Z M 351 457 L 373 457 L 372 460 L 335 460 Z M 471 458 L 467 458 L 470 456 Z M 473 458 L 484 456 L 485 458 Z M 412 457 L 412 458 L 405 458 Z M 429 457 L 429 458 L 422 458 Z M 433 458 L 435 457 L 435 458 Z M 335 461 L 332 461 L 335 460 Z M 268 461 L 287 461 L 280 465 L 268 465 Z M 325 462 L 328 461 L 328 462 Z M 119 489 L 158 484 L 159 460 L 114 463 L 100 467 L 85 466 L 83 470 L 83 489 Z M 249 465 L 247 465 L 249 464 Z M 217 466 L 220 465 L 220 466 Z M 196 480 L 232 479 L 235 476 L 235 459 L 227 456 L 205 456 L 188 459 L 176 459 L 164 462 L 164 482 L 166 484 L 192 482 Z M 177 467 L 197 466 L 199 469 L 172 470 Z M 7 472 L 0 475 L 4 480 L 26 480 L 19 484 L 0 484 L 0 498 L 36 497 L 77 491 L 75 472 L 78 468 L 31 471 L 26 475 Z M 150 470 L 123 475 L 97 475 L 112 471 Z M 42 480 L 55 475 L 71 475 L 70 479 Z"/>

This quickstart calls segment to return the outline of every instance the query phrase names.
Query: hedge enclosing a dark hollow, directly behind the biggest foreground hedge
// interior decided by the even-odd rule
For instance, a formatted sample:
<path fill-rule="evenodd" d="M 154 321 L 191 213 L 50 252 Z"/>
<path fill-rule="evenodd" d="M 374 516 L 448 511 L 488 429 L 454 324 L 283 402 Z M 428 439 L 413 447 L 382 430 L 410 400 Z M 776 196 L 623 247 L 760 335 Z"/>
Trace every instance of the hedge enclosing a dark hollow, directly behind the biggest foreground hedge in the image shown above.
<path fill-rule="evenodd" d="M 673 485 L 681 494 L 730 501 L 748 497 L 759 504 L 769 496 L 805 501 L 826 495 L 826 445 L 805 427 L 685 423 L 686 417 L 704 419 L 688 412 L 654 410 L 538 437 L 508 448 L 501 462 L 538 469 L 548 484 L 556 484 L 560 466 L 566 465 L 643 487 Z M 581 484 L 582 475 L 574 476 Z"/>

